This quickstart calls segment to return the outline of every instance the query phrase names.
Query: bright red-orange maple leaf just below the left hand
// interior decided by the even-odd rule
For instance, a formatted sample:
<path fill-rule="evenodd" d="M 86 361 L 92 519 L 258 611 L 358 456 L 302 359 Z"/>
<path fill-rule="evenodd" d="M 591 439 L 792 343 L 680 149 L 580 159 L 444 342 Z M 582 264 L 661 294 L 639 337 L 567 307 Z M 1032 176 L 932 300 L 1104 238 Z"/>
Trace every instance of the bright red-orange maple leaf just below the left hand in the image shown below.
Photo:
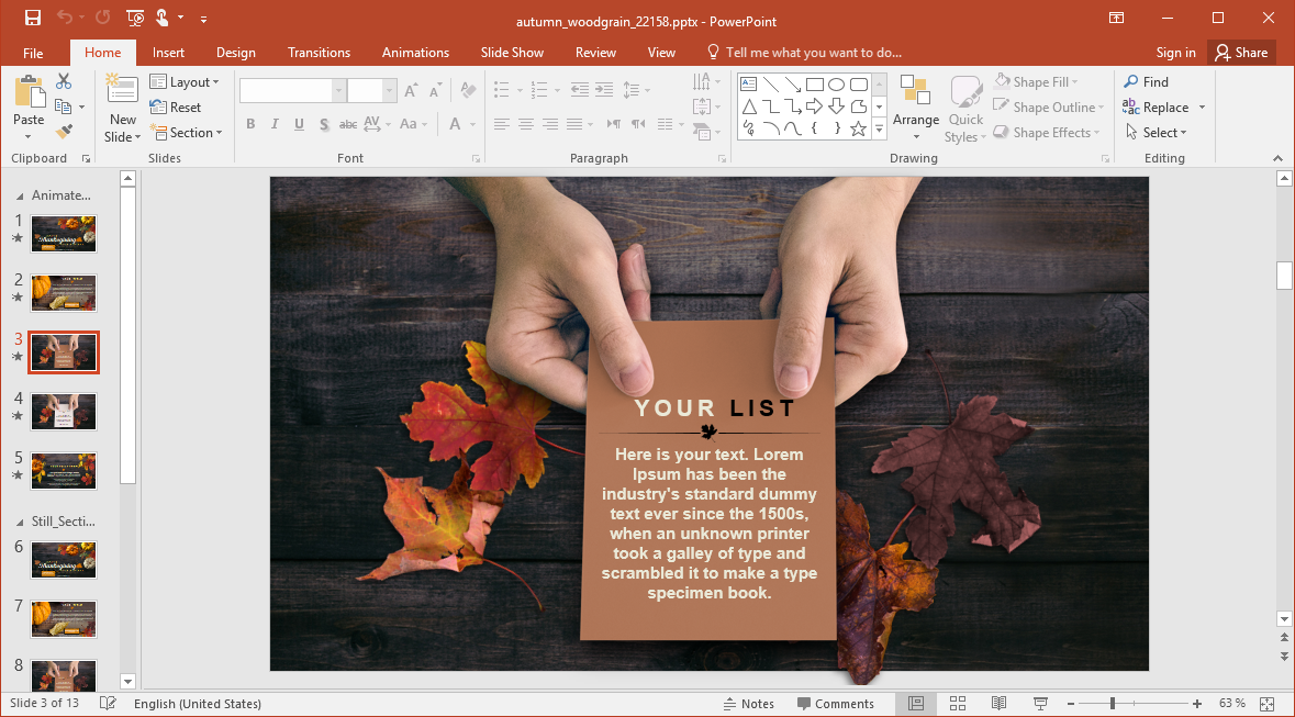
<path fill-rule="evenodd" d="M 535 436 L 535 423 L 549 414 L 549 400 L 491 370 L 484 344 L 464 342 L 464 347 L 467 373 L 486 391 L 486 405 L 469 399 L 458 386 L 429 381 L 422 384 L 425 400 L 413 404 L 400 421 L 411 439 L 433 441 L 433 461 L 447 461 L 491 441 L 491 449 L 471 465 L 473 489 L 512 493 L 518 476 L 535 488 L 548 458 Z"/>

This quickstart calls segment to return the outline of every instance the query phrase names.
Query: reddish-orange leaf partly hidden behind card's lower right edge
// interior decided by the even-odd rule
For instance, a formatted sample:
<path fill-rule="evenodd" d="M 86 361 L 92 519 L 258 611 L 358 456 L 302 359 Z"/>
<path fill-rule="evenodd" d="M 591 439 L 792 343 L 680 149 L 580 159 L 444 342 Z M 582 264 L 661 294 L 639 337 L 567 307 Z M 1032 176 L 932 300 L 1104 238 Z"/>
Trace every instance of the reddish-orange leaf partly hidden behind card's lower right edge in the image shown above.
<path fill-rule="evenodd" d="M 855 685 L 868 685 L 882 669 L 891 624 L 900 610 L 935 602 L 940 571 L 905 560 L 906 542 L 869 545 L 868 515 L 837 491 L 837 667 Z"/>

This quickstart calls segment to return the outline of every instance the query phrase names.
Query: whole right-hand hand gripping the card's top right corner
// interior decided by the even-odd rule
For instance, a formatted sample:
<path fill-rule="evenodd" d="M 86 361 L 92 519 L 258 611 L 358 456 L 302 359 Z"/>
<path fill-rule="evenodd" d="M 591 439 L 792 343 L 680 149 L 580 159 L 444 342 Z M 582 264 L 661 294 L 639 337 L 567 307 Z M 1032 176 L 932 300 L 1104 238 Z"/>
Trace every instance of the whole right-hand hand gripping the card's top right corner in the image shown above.
<path fill-rule="evenodd" d="M 895 232 L 919 177 L 839 177 L 796 202 L 760 314 L 778 318 L 773 381 L 809 392 L 822 358 L 822 320 L 835 317 L 835 403 L 899 366 L 908 352 Z"/>

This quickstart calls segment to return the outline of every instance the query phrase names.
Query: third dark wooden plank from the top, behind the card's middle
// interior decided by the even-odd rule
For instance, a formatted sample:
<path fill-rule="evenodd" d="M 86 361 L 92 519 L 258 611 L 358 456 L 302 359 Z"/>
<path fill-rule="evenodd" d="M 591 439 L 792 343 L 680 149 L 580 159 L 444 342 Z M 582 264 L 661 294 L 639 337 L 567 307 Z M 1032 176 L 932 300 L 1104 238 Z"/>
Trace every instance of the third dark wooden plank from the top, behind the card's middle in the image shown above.
<path fill-rule="evenodd" d="M 909 471 L 875 475 L 868 469 L 910 428 L 837 428 L 837 485 L 868 507 L 874 532 L 882 537 L 913 505 L 899 488 Z M 559 445 L 584 449 L 583 427 L 541 434 Z M 444 488 L 455 466 L 429 462 L 430 449 L 430 444 L 411 441 L 403 426 L 277 427 L 271 443 L 271 557 L 381 559 L 398 550 L 400 535 L 377 510 L 386 488 L 374 466 L 395 476 L 422 475 L 425 485 Z M 518 487 L 495 522 L 487 541 L 490 558 L 580 559 L 584 459 L 561 450 L 548 453 L 540 484 Z M 1024 488 L 1040 505 L 1042 529 L 1009 557 L 1002 549 L 971 545 L 983 520 L 957 505 L 958 533 L 949 541 L 947 562 L 1147 558 L 1146 428 L 1040 428 L 998 462 L 1013 488 Z"/>

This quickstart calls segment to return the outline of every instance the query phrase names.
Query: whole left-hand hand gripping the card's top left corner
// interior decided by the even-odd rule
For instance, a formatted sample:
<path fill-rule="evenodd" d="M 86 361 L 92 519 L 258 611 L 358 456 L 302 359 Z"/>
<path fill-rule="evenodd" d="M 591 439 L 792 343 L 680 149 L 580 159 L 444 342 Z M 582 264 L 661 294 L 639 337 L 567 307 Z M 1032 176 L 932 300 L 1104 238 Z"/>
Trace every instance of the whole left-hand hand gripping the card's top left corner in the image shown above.
<path fill-rule="evenodd" d="M 491 368 L 584 412 L 592 338 L 611 382 L 629 396 L 648 393 L 651 357 L 633 326 L 651 312 L 642 246 L 618 260 L 602 224 L 546 179 L 449 181 L 495 225 Z"/>

